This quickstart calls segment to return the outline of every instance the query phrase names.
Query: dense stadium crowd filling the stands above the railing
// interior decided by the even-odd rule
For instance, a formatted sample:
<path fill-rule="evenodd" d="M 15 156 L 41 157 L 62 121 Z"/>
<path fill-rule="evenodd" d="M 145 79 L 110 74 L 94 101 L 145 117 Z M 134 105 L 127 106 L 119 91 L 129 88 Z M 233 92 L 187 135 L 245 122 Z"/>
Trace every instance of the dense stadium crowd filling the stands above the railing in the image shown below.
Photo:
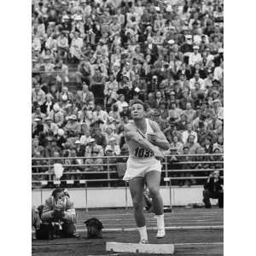
<path fill-rule="evenodd" d="M 127 154 L 136 98 L 166 154 L 223 153 L 223 21 L 222 0 L 32 1 L 34 163 Z"/>

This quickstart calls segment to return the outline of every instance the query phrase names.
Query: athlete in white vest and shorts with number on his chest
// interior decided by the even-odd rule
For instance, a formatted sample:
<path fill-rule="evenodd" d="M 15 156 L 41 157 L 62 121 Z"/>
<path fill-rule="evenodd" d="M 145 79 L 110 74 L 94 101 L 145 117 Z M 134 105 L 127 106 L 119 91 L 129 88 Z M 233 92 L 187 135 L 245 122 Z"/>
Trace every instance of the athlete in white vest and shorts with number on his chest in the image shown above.
<path fill-rule="evenodd" d="M 129 158 L 124 180 L 129 181 L 134 217 L 140 233 L 140 243 L 148 243 L 148 234 L 143 214 L 143 191 L 147 183 L 152 197 L 158 232 L 156 237 L 166 236 L 163 200 L 160 196 L 160 160 L 164 157 L 161 149 L 167 150 L 169 143 L 160 131 L 160 126 L 145 118 L 144 104 L 140 100 L 131 102 L 133 121 L 125 125 L 125 141 Z"/>

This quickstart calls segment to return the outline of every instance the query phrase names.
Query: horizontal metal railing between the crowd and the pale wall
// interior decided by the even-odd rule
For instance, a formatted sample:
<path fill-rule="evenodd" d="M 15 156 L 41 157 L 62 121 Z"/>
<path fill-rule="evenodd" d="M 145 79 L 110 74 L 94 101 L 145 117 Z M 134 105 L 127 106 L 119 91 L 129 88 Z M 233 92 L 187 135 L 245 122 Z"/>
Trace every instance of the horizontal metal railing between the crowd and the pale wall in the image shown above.
<path fill-rule="evenodd" d="M 122 180 L 128 156 L 32 158 L 32 187 L 125 186 Z M 97 162 L 95 162 L 97 160 Z M 54 164 L 64 167 L 61 180 L 55 179 Z M 120 165 L 120 163 L 123 163 Z M 120 170 L 123 166 L 123 170 Z M 172 154 L 162 160 L 161 185 L 201 185 L 212 171 L 223 175 L 223 154 Z M 123 171 L 123 172 L 122 172 Z"/>

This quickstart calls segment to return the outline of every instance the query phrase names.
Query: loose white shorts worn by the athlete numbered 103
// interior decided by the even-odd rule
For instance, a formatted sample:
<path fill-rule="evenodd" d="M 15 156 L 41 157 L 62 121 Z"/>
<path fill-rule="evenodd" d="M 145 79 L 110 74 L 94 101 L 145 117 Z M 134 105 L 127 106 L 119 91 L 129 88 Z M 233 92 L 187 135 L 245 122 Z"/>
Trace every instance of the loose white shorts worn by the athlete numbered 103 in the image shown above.
<path fill-rule="evenodd" d="M 144 177 L 147 172 L 151 171 L 162 171 L 160 160 L 156 160 L 154 157 L 135 158 L 130 156 L 127 160 L 127 168 L 123 180 L 129 181 L 134 177 Z"/>

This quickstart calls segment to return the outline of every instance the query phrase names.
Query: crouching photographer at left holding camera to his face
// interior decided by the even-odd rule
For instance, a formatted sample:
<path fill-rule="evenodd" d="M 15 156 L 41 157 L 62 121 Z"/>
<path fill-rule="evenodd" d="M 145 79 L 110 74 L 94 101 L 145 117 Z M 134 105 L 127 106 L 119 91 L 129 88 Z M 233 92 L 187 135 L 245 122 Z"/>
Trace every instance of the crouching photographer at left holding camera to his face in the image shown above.
<path fill-rule="evenodd" d="M 41 220 L 43 223 L 61 221 L 63 236 L 76 236 L 74 226 L 76 218 L 73 201 L 65 195 L 63 189 L 55 189 L 52 195 L 45 200 Z"/>

